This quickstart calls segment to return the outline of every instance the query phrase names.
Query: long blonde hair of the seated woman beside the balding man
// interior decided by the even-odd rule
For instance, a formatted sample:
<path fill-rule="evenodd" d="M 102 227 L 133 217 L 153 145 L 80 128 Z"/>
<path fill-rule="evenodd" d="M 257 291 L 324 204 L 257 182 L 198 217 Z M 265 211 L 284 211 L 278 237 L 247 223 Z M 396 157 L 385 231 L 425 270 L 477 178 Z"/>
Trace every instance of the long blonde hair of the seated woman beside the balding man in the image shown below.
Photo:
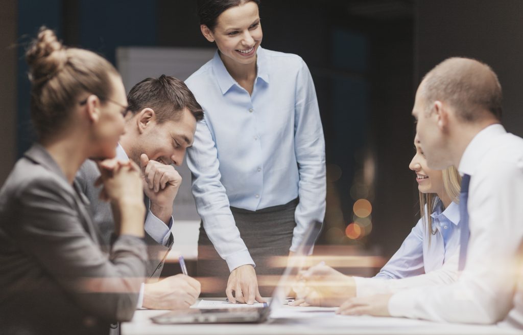
<path fill-rule="evenodd" d="M 461 176 L 454 166 L 450 166 L 442 173 L 443 187 L 445 192 L 452 200 L 452 202 L 459 204 L 459 193 L 461 189 Z M 430 214 L 433 213 L 439 198 L 436 193 L 422 193 L 419 192 L 419 215 L 422 217 L 426 227 L 428 243 L 430 245 L 431 235 L 435 235 L 436 231 L 432 230 L 432 217 Z M 425 210 L 427 206 L 427 210 Z"/>

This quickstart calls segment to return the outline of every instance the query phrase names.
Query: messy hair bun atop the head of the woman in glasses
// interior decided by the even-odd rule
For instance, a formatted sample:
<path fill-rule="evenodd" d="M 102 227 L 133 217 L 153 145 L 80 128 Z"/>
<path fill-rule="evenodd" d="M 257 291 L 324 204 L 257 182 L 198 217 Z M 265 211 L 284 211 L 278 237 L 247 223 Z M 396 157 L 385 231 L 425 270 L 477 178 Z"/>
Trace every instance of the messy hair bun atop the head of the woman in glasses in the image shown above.
<path fill-rule="evenodd" d="M 26 61 L 29 65 L 29 80 L 33 84 L 40 84 L 50 80 L 64 68 L 67 53 L 54 31 L 41 27 L 38 37 L 32 41 L 26 52 Z"/>

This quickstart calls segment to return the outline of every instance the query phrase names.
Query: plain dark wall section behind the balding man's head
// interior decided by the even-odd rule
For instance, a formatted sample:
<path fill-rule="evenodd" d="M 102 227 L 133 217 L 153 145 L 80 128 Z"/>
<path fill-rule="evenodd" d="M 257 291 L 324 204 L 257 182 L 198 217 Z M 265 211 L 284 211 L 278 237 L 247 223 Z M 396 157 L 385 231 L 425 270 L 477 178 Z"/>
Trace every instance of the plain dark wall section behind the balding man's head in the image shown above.
<path fill-rule="evenodd" d="M 451 56 L 487 63 L 503 87 L 503 124 L 523 136 L 523 2 L 423 0 L 417 17 L 416 79 Z"/>

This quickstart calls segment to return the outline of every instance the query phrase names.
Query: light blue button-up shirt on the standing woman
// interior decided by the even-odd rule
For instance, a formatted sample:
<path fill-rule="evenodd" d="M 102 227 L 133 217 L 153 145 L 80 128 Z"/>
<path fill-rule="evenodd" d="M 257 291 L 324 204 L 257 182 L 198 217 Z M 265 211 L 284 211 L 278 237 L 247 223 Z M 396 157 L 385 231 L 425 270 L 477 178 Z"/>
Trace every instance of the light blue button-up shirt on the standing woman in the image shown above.
<path fill-rule="evenodd" d="M 325 215 L 325 141 L 309 69 L 297 55 L 261 47 L 256 65 L 252 95 L 218 51 L 186 80 L 205 112 L 187 151 L 192 193 L 231 271 L 254 262 L 230 206 L 257 210 L 299 197 L 292 251 L 310 222 Z"/>

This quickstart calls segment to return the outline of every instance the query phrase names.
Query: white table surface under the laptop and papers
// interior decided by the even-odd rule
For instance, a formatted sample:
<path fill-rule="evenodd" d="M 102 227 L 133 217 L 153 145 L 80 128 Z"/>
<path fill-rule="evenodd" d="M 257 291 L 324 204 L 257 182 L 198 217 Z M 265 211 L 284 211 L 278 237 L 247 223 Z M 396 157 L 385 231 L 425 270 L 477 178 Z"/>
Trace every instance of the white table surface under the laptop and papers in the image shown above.
<path fill-rule="evenodd" d="M 122 335 L 276 335 L 276 334 L 521 334 L 521 331 L 497 326 L 456 325 L 404 318 L 382 318 L 371 316 L 339 316 L 333 311 L 288 311 L 264 323 L 213 323 L 192 325 L 157 325 L 151 317 L 163 314 L 165 310 L 137 310 L 130 322 L 121 325 Z M 281 311 L 281 309 L 280 309 Z M 287 312 L 300 314 L 286 317 Z"/>

